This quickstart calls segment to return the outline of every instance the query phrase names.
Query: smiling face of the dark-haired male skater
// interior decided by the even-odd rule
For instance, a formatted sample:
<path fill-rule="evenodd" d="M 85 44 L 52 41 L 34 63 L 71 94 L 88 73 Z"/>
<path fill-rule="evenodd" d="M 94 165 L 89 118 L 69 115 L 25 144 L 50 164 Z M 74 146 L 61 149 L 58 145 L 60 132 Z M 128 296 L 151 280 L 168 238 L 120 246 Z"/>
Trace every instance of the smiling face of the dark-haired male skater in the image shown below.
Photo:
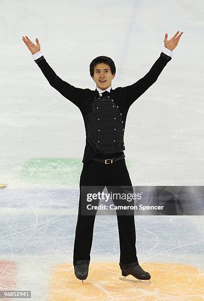
<path fill-rule="evenodd" d="M 99 89 L 106 90 L 109 88 L 114 77 L 115 74 L 111 73 L 109 65 L 99 63 L 94 67 L 94 76 L 92 78 Z"/>

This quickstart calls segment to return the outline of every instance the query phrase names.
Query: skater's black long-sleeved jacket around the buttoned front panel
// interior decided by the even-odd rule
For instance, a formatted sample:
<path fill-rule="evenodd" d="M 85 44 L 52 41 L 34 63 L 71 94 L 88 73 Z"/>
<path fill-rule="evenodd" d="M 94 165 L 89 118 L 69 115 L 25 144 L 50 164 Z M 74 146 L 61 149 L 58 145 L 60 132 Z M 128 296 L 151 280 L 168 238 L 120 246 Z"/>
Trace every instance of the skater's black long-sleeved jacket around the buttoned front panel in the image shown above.
<path fill-rule="evenodd" d="M 138 97 L 140 97 L 150 86 L 153 85 L 153 83 L 157 80 L 159 74 L 161 73 L 161 71 L 166 66 L 169 60 L 171 60 L 171 57 L 167 56 L 162 52 L 160 54 L 160 57 L 153 64 L 150 71 L 143 78 L 141 78 L 136 83 L 130 86 L 118 87 L 114 90 L 110 90 L 110 97 L 114 99 L 114 102 L 120 107 L 120 112 L 122 113 L 124 120 L 124 128 L 130 105 Z M 121 155 L 123 152 L 108 155 L 98 154 L 87 139 L 87 115 L 90 112 L 90 104 L 95 99 L 95 97 L 99 97 L 98 90 L 96 89 L 94 91 L 90 89 L 76 88 L 63 81 L 56 75 L 56 73 L 52 70 L 51 66 L 48 64 L 48 62 L 43 56 L 35 60 L 35 62 L 42 70 L 43 74 L 49 81 L 51 87 L 59 91 L 64 97 L 73 102 L 82 113 L 86 129 L 86 146 L 82 162 L 87 162 L 93 157 L 112 158 L 113 156 L 117 157 Z"/>

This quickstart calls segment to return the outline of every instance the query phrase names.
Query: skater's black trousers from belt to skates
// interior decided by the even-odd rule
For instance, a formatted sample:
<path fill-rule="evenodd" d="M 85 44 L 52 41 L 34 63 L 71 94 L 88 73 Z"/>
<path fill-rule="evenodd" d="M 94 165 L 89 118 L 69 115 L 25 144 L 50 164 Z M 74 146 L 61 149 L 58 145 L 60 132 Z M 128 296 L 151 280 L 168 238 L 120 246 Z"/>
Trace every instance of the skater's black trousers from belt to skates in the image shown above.
<path fill-rule="evenodd" d="M 96 161 L 83 163 L 79 187 L 86 185 L 106 186 L 107 189 L 111 185 L 132 186 L 125 159 L 112 164 L 103 164 Z M 96 217 L 96 215 L 81 215 L 81 202 L 83 200 L 81 199 L 80 189 L 73 263 L 81 259 L 90 260 Z M 117 214 L 117 220 L 120 239 L 120 263 L 137 262 L 134 215 Z"/>

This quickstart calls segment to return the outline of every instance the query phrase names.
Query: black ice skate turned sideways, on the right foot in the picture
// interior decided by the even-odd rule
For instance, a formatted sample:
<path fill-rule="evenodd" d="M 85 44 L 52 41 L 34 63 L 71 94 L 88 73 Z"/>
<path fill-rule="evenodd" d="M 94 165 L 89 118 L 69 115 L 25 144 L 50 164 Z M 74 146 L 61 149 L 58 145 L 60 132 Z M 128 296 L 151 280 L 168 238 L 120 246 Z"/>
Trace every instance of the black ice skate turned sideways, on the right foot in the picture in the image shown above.
<path fill-rule="evenodd" d="M 128 275 L 132 275 L 133 277 L 139 279 L 139 280 L 149 280 L 149 282 L 144 282 L 144 281 L 138 281 L 138 282 L 144 282 L 144 283 L 148 283 L 150 284 L 151 281 L 150 281 L 150 278 L 151 278 L 151 275 L 150 273 L 144 271 L 138 262 L 133 262 L 131 264 L 127 264 L 127 265 L 123 265 L 121 263 L 119 263 L 120 265 L 120 268 L 121 268 L 121 271 L 122 271 L 122 276 L 125 277 L 125 279 L 122 279 L 122 280 L 128 280 L 128 281 L 133 281 L 135 282 L 134 280 L 130 280 L 130 279 L 126 279 L 126 276 Z"/>

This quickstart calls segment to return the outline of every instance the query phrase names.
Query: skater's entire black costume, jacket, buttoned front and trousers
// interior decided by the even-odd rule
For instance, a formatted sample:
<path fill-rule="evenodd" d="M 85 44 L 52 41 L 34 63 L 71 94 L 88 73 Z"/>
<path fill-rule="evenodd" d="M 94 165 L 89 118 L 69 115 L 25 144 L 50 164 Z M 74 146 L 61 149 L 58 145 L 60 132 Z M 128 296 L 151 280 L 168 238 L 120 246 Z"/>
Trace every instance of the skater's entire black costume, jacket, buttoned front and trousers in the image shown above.
<path fill-rule="evenodd" d="M 72 101 L 81 111 L 85 129 L 86 146 L 83 156 L 83 169 L 80 176 L 80 197 L 76 227 L 74 263 L 90 260 L 95 215 L 81 215 L 81 186 L 111 185 L 131 186 L 124 155 L 124 130 L 130 105 L 157 80 L 171 57 L 160 54 L 150 71 L 139 81 L 127 87 L 111 89 L 110 93 L 96 89 L 80 89 L 60 79 L 42 56 L 35 60 L 50 85 Z M 101 164 L 93 158 L 106 160 Z M 137 261 L 135 247 L 135 224 L 133 215 L 117 215 L 120 238 L 120 263 L 131 264 Z"/>

